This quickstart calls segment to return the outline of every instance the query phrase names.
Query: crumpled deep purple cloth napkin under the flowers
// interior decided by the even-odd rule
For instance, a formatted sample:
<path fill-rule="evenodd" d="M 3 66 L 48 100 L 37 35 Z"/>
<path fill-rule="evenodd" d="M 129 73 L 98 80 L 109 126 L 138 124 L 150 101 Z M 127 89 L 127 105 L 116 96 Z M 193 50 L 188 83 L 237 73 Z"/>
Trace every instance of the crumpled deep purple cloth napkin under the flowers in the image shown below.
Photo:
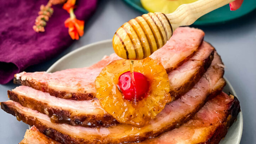
<path fill-rule="evenodd" d="M 36 33 L 33 25 L 40 6 L 48 0 L 0 1 L 0 84 L 30 65 L 41 63 L 59 54 L 73 40 L 64 21 L 69 17 L 62 5 L 54 5 L 53 15 L 45 32 Z M 97 0 L 77 0 L 76 18 L 88 20 L 96 9 Z"/>

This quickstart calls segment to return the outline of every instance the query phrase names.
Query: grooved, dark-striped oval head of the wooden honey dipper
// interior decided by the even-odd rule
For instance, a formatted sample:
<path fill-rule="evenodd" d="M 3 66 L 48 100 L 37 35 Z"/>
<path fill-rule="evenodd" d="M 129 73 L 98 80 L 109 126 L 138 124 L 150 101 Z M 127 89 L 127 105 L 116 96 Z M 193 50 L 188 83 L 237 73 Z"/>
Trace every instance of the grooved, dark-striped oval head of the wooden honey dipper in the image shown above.
<path fill-rule="evenodd" d="M 169 19 L 161 12 L 138 16 L 118 28 L 113 37 L 116 54 L 129 60 L 149 57 L 172 36 Z"/>

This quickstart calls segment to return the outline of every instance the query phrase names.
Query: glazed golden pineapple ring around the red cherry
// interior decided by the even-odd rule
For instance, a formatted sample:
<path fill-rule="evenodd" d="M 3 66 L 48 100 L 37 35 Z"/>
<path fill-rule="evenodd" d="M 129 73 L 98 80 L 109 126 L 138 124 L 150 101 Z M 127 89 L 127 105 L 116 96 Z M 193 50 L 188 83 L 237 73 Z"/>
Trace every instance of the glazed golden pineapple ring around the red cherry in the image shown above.
<path fill-rule="evenodd" d="M 134 71 L 142 73 L 149 81 L 146 97 L 136 102 L 123 98 L 119 91 L 118 78 L 130 70 L 129 60 L 115 60 L 107 65 L 95 80 L 101 106 L 120 123 L 144 126 L 161 112 L 169 100 L 170 84 L 165 68 L 151 58 L 134 61 Z"/>

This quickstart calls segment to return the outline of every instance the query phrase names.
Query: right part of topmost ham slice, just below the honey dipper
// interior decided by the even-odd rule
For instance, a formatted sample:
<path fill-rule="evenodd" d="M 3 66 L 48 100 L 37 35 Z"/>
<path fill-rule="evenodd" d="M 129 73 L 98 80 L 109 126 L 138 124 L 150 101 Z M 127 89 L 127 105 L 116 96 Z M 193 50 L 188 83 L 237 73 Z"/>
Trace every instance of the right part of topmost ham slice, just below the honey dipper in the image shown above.
<path fill-rule="evenodd" d="M 204 32 L 202 30 L 179 27 L 174 31 L 170 40 L 150 57 L 161 62 L 167 73 L 169 73 L 197 51 L 203 37 Z"/>

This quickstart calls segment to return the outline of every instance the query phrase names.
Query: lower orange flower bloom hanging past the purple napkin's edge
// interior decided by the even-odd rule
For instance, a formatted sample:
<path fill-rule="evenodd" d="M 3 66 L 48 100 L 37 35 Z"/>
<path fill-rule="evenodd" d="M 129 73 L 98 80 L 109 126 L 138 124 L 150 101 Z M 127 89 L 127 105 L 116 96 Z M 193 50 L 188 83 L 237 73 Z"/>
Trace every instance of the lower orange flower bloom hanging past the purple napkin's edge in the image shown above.
<path fill-rule="evenodd" d="M 76 18 L 68 18 L 65 21 L 65 27 L 69 28 L 69 35 L 72 39 L 79 39 L 84 34 L 84 21 Z"/>

